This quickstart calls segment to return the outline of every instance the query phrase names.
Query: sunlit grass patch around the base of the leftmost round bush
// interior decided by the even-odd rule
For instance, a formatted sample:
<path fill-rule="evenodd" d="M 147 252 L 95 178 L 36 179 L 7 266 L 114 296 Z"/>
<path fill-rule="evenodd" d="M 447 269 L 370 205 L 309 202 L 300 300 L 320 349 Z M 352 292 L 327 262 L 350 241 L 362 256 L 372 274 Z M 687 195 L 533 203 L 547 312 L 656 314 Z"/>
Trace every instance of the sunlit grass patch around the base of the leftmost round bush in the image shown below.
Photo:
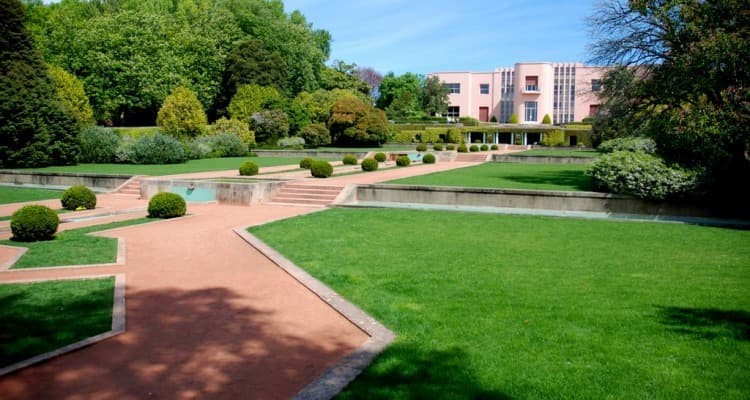
<path fill-rule="evenodd" d="M 58 232 L 55 239 L 49 241 L 0 240 L 0 244 L 29 249 L 12 269 L 112 263 L 117 261 L 117 239 L 87 234 L 151 221 L 154 220 L 138 218 Z"/>

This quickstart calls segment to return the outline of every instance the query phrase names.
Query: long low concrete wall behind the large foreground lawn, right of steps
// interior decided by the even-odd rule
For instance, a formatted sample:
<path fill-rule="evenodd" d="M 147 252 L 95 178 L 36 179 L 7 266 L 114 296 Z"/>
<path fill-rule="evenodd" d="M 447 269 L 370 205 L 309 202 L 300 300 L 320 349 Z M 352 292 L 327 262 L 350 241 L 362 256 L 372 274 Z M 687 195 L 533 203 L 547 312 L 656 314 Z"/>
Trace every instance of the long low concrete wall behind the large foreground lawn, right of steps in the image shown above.
<path fill-rule="evenodd" d="M 411 185 L 358 185 L 343 204 L 387 202 L 453 207 L 501 207 L 650 216 L 712 217 L 709 210 L 596 192 L 484 189 Z M 343 205 L 342 204 L 342 205 Z"/>

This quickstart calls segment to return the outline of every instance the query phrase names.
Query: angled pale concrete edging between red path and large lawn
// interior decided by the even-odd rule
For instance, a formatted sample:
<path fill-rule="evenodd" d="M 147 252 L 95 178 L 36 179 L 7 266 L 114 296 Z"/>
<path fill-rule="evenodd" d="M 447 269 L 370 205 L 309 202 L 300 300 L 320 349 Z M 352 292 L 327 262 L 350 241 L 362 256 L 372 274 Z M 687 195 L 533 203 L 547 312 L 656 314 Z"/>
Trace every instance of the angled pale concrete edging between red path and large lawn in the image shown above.
<path fill-rule="evenodd" d="M 341 359 L 336 365 L 328 369 L 328 371 L 324 372 L 293 397 L 298 400 L 333 398 L 367 368 L 375 357 L 393 342 L 396 335 L 375 318 L 367 315 L 360 308 L 333 291 L 333 289 L 315 279 L 262 240 L 247 232 L 247 228 L 235 228 L 234 232 L 321 300 L 325 301 L 344 318 L 370 336 L 370 339 L 354 350 L 354 352 Z"/>

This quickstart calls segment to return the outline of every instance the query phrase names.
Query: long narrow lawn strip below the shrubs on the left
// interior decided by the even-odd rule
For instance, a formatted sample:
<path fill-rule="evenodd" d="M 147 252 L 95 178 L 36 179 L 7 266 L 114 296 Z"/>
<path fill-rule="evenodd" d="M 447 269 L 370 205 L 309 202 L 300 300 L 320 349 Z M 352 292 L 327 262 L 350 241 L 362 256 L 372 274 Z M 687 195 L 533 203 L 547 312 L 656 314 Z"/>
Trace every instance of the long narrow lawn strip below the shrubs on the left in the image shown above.
<path fill-rule="evenodd" d="M 225 157 L 190 160 L 182 164 L 78 164 L 61 167 L 31 168 L 29 171 L 72 172 L 126 175 L 174 175 L 193 172 L 222 171 L 238 169 L 245 161 L 252 161 L 259 167 L 299 164 L 299 157 Z M 20 171 L 26 171 L 21 169 Z"/>

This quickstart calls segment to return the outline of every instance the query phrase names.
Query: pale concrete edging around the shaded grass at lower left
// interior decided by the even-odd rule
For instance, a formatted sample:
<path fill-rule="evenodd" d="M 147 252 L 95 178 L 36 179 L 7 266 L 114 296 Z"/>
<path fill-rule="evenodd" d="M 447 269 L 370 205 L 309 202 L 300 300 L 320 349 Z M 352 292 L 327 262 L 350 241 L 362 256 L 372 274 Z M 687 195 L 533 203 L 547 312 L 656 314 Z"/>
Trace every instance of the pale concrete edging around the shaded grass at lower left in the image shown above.
<path fill-rule="evenodd" d="M 104 339 L 109 339 L 113 336 L 119 335 L 125 332 L 125 274 L 114 274 L 114 275 L 89 275 L 89 276 L 76 276 L 66 278 L 54 278 L 54 279 L 27 279 L 17 281 L 0 282 L 0 285 L 13 284 L 13 283 L 37 283 L 37 282 L 53 282 L 53 281 L 68 281 L 68 280 L 90 280 L 114 277 L 115 284 L 113 290 L 113 301 L 112 301 L 112 325 L 110 330 L 107 332 L 100 333 L 95 336 L 83 339 L 81 341 L 71 343 L 67 346 L 60 347 L 59 349 L 49 351 L 44 354 L 40 354 L 26 360 L 19 361 L 15 364 L 11 364 L 7 367 L 0 368 L 0 376 L 7 375 L 11 372 L 17 371 L 22 368 L 26 368 L 30 365 L 40 363 L 42 361 L 49 360 L 54 357 L 61 356 L 71 351 L 81 349 L 86 346 L 90 346 L 94 343 L 100 342 Z"/>

